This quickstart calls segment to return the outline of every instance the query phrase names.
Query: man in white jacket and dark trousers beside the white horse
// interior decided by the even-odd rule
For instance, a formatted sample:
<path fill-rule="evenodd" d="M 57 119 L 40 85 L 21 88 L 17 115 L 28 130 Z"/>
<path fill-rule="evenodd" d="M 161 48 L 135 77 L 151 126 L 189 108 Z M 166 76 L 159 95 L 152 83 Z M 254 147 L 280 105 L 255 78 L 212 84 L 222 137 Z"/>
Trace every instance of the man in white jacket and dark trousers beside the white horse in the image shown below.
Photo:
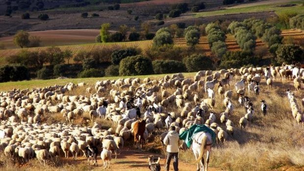
<path fill-rule="evenodd" d="M 169 171 L 171 158 L 173 158 L 174 171 L 178 171 L 179 135 L 175 130 L 175 126 L 170 126 L 169 132 L 164 138 L 164 144 L 167 145 L 167 159 L 165 163 L 165 171 Z"/>

